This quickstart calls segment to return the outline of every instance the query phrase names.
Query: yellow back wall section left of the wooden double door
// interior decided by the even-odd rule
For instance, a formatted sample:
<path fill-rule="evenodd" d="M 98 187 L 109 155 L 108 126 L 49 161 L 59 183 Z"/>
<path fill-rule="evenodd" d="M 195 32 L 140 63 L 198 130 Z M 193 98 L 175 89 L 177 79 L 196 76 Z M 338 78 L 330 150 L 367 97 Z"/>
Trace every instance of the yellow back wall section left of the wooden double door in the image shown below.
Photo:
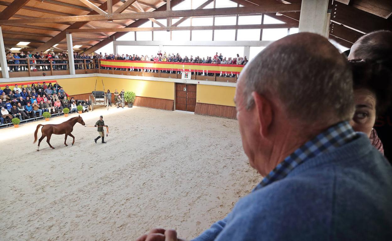
<path fill-rule="evenodd" d="M 105 84 L 105 91 L 110 89 L 112 93 L 115 89 L 117 89 L 118 92 L 124 89 L 125 91 L 129 90 L 135 92 L 136 96 L 174 100 L 173 82 L 98 77 L 98 82 L 100 82 L 101 85 L 101 80 L 103 80 L 103 84 Z"/>

